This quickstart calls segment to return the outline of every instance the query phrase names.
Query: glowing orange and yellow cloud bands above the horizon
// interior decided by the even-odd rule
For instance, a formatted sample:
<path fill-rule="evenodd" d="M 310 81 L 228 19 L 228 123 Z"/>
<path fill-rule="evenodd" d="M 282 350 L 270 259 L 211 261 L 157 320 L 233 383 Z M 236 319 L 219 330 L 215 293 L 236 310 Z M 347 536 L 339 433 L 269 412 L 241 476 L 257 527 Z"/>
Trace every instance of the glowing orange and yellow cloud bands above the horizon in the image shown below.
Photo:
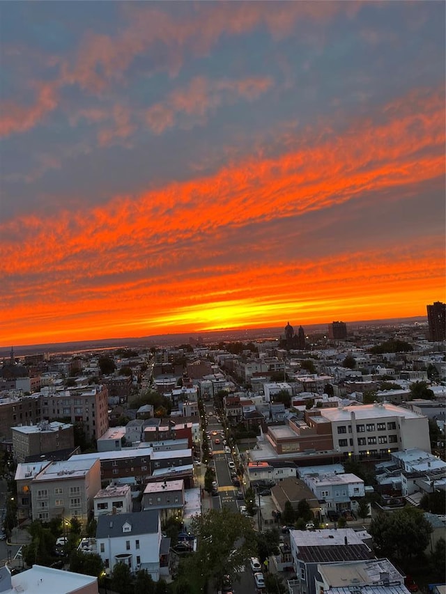
<path fill-rule="evenodd" d="M 286 152 L 277 157 L 245 159 L 79 214 L 3 222 L 8 315 L 0 343 L 31 336 L 30 312 L 36 334 L 60 340 L 282 325 L 288 318 L 313 323 L 346 319 L 346 312 L 350 319 L 424 313 L 420 304 L 444 293 L 444 235 L 433 230 L 415 245 L 387 242 L 330 257 L 284 249 L 282 260 L 268 256 L 268 236 L 251 247 L 245 240 L 242 253 L 231 239 L 249 237 L 253 224 L 291 217 L 298 233 L 302 214 L 365 193 L 376 201 L 390 194 L 403 211 L 406 189 L 444 179 L 441 92 L 412 93 L 380 116 L 379 124 L 358 120 L 316 145 L 287 133 Z"/>

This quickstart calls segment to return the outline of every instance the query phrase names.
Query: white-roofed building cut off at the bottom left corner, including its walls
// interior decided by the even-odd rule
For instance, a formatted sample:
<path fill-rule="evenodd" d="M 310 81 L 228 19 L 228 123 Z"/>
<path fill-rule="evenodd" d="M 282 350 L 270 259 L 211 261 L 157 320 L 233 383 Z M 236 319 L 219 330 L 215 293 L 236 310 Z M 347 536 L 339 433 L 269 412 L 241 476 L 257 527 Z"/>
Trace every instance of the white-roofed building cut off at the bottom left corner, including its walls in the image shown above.
<path fill-rule="evenodd" d="M 7 565 L 0 568 L 1 594 L 98 594 L 98 578 L 82 573 L 33 565 L 11 575 Z"/>

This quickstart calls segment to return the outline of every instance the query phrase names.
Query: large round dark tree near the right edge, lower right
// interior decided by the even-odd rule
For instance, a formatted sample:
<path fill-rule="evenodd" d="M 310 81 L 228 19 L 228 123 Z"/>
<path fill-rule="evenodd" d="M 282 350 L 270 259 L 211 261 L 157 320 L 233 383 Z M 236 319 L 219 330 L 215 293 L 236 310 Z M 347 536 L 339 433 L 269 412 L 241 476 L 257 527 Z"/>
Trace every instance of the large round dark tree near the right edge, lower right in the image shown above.
<path fill-rule="evenodd" d="M 392 514 L 372 519 L 369 533 L 380 556 L 407 561 L 424 552 L 430 541 L 432 526 L 422 510 L 406 506 Z"/>

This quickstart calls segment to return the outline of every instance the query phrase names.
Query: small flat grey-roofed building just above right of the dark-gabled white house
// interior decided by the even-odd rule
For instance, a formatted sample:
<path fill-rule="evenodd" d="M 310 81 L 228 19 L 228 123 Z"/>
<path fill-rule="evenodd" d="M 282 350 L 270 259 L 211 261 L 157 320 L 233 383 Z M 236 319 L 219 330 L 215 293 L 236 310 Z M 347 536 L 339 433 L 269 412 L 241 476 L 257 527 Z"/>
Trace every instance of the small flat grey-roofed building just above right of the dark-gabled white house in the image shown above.
<path fill-rule="evenodd" d="M 143 510 L 158 510 L 162 520 L 182 517 L 185 505 L 184 480 L 148 483 L 141 501 Z"/>

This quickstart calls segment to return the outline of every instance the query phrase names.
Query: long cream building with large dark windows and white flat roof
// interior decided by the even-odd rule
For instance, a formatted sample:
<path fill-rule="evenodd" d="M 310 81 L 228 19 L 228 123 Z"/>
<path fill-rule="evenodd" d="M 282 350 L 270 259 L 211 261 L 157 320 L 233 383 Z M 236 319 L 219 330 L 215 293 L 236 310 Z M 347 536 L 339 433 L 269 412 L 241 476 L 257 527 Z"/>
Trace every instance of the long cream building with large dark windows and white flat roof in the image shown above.
<path fill-rule="evenodd" d="M 320 414 L 332 425 L 334 449 L 345 455 L 367 458 L 408 448 L 431 451 L 427 417 L 408 409 L 379 402 L 321 409 Z"/>

